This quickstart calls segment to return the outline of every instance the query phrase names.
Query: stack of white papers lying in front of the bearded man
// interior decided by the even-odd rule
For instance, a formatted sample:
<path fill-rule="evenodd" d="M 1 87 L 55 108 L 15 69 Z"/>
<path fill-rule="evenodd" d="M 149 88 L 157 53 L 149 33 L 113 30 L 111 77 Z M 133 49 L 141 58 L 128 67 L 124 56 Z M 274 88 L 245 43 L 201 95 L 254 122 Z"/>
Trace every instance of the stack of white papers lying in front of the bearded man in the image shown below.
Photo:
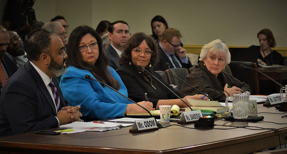
<path fill-rule="evenodd" d="M 73 128 L 82 129 L 86 131 L 109 131 L 113 129 L 119 129 L 120 124 L 105 124 L 105 123 L 90 123 L 90 122 L 73 122 L 67 125 L 61 125 L 61 128 Z"/>

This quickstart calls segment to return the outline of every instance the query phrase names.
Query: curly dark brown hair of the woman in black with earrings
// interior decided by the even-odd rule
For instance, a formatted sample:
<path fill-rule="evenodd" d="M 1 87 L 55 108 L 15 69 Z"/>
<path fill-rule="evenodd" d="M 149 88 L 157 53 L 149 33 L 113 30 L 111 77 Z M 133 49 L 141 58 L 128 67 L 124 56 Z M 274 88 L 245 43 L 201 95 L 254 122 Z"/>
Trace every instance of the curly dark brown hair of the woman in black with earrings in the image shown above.
<path fill-rule="evenodd" d="M 143 32 L 133 34 L 131 38 L 127 41 L 127 43 L 123 46 L 124 52 L 119 59 L 118 65 L 122 66 L 129 63 L 131 61 L 131 52 L 133 48 L 138 47 L 144 40 L 146 40 L 146 43 L 148 44 L 148 47 L 150 47 L 150 50 L 153 51 L 150 57 L 150 64 L 152 64 L 152 67 L 156 66 L 159 61 L 157 44 L 151 36 L 146 35 Z M 146 69 L 152 69 L 152 67 Z"/>

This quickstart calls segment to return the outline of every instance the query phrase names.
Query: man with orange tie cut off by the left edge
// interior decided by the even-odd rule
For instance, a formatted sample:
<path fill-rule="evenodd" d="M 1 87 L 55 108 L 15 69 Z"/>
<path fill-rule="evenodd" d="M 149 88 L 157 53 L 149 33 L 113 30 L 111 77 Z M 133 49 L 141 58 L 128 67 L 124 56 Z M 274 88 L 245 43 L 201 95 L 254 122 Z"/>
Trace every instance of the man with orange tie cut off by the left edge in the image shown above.
<path fill-rule="evenodd" d="M 9 34 L 7 30 L 0 25 L 0 95 L 1 91 L 9 79 L 16 71 L 16 61 L 6 52 L 9 45 Z"/>

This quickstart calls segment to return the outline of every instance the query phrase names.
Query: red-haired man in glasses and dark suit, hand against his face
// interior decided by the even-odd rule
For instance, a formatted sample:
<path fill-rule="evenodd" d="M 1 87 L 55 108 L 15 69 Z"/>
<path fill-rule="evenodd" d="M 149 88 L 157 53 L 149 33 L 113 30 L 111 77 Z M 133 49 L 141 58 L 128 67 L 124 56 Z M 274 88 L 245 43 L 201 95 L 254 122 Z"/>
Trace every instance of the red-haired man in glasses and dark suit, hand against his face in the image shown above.
<path fill-rule="evenodd" d="M 186 57 L 186 50 L 181 47 L 181 34 L 175 28 L 168 28 L 162 34 L 162 42 L 158 45 L 160 61 L 154 67 L 155 71 L 165 71 L 168 69 L 165 63 L 168 62 L 170 68 L 192 67 L 191 62 Z"/>

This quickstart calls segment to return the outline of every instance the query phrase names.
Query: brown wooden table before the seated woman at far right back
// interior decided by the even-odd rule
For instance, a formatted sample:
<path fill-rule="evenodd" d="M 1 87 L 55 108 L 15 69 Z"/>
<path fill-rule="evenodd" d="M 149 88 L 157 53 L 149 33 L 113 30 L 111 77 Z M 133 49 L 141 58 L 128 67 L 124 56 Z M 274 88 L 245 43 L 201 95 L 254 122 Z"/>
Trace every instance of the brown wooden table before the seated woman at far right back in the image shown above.
<path fill-rule="evenodd" d="M 271 77 L 273 80 L 277 81 L 281 85 L 283 84 L 283 80 L 287 80 L 287 66 L 284 67 L 258 67 L 258 71 L 261 71 L 265 75 Z M 270 81 L 267 77 L 258 73 L 259 80 L 267 80 Z M 285 86 L 285 85 L 283 85 Z M 276 93 L 279 93 L 281 86 L 276 84 Z"/>

